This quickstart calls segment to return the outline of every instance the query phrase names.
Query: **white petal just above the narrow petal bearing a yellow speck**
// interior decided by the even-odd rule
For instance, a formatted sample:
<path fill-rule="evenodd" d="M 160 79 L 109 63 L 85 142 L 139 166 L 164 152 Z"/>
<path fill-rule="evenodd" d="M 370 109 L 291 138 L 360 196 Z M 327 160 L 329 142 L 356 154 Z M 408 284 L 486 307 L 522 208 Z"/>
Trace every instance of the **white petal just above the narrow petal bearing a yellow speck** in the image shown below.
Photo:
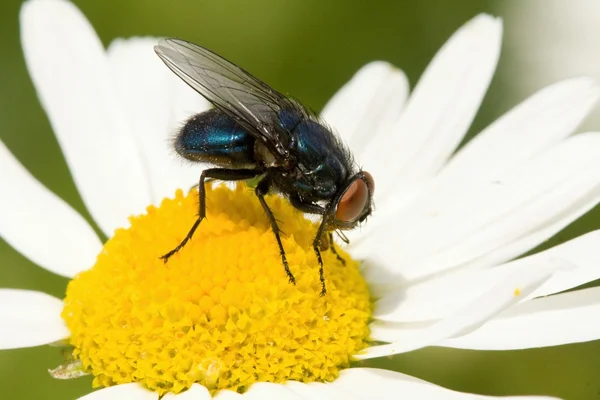
<path fill-rule="evenodd" d="M 529 297 L 546 296 L 600 279 L 600 231 L 588 233 L 549 250 L 483 270 L 462 270 L 408 287 L 377 301 L 374 317 L 390 322 L 430 321 L 453 314 L 483 295 L 495 282 L 515 271 L 552 259 L 574 268 L 557 271 Z M 524 297 L 526 298 L 526 297 Z"/>

